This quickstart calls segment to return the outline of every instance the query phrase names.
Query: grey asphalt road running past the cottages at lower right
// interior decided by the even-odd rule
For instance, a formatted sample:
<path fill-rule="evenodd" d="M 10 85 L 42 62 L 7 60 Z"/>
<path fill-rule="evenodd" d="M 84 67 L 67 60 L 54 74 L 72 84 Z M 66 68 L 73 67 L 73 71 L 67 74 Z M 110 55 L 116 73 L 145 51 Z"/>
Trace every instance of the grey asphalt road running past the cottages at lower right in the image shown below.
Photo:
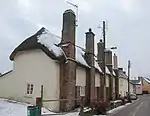
<path fill-rule="evenodd" d="M 140 96 L 138 101 L 110 116 L 150 116 L 150 95 Z"/>

